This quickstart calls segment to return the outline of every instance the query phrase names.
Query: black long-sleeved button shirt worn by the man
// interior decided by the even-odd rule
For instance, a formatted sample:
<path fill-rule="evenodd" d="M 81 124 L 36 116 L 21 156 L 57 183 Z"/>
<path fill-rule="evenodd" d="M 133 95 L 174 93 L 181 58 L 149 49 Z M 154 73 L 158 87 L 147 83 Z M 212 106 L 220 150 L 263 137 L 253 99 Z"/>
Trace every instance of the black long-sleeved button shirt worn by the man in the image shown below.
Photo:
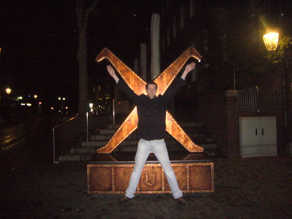
<path fill-rule="evenodd" d="M 166 132 L 166 106 L 170 102 L 184 79 L 179 77 L 173 81 L 173 84 L 166 90 L 164 95 L 159 94 L 150 99 L 147 95 L 137 95 L 129 88 L 124 80 L 119 79 L 117 85 L 126 93 L 126 95 L 137 105 L 138 128 L 137 138 L 144 140 L 162 139 Z"/>

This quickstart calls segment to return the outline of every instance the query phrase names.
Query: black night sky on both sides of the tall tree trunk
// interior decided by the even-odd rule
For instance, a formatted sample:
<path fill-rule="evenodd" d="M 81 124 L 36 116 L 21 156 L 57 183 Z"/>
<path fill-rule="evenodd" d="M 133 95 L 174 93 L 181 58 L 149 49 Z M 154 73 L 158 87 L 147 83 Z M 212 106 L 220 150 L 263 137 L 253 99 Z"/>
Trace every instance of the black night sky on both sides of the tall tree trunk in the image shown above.
<path fill-rule="evenodd" d="M 95 56 L 107 47 L 126 64 L 140 55 L 140 43 L 150 41 L 157 1 L 100 0 L 87 29 L 89 77 Z M 91 0 L 85 0 L 90 4 Z M 75 0 L 1 1 L 0 88 L 9 85 L 20 95 L 78 96 L 78 49 Z M 98 74 L 98 73 L 96 73 Z"/>

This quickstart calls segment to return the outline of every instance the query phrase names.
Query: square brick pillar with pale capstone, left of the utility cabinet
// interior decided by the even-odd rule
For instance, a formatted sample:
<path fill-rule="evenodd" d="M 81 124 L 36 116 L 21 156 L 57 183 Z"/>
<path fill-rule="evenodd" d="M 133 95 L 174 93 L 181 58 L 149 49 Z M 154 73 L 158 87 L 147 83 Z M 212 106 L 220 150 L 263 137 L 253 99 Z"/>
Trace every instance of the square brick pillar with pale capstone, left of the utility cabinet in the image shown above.
<path fill-rule="evenodd" d="M 227 157 L 239 157 L 238 92 L 229 90 L 226 96 L 226 149 Z"/>

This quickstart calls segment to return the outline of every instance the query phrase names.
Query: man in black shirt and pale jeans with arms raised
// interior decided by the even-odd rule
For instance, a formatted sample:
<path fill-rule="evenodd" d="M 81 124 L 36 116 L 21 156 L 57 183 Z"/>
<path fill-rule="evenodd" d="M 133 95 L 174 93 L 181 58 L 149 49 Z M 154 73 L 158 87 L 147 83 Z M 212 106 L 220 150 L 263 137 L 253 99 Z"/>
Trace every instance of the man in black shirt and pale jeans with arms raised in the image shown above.
<path fill-rule="evenodd" d="M 171 167 L 164 142 L 164 135 L 166 133 L 165 118 L 168 102 L 173 99 L 173 96 L 183 84 L 185 77 L 192 69 L 194 69 L 194 67 L 194 62 L 188 64 L 185 67 L 182 76 L 173 82 L 172 86 L 166 90 L 164 95 L 159 94 L 156 96 L 157 84 L 155 82 L 149 82 L 146 84 L 147 95 L 137 95 L 123 80 L 120 80 L 117 77 L 112 66 L 107 65 L 107 71 L 114 78 L 117 86 L 119 86 L 132 102 L 137 105 L 138 113 L 137 138 L 140 138 L 140 140 L 138 142 L 135 166 L 131 174 L 129 186 L 126 190 L 125 196 L 120 200 L 121 202 L 128 201 L 134 197 L 134 192 L 137 189 L 142 169 L 148 155 L 152 151 L 164 170 L 173 197 L 178 203 L 182 205 L 185 204 L 183 192 L 178 188 L 178 183 Z"/>

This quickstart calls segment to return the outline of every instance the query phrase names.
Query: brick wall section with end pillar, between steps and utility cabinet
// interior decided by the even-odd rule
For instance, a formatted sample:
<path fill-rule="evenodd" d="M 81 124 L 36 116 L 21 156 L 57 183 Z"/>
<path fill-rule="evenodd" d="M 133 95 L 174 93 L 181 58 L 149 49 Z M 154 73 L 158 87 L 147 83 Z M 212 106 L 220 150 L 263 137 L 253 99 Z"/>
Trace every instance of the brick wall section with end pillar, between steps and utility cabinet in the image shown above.
<path fill-rule="evenodd" d="M 199 118 L 218 149 L 227 157 L 239 157 L 239 114 L 237 91 L 199 96 Z"/>

